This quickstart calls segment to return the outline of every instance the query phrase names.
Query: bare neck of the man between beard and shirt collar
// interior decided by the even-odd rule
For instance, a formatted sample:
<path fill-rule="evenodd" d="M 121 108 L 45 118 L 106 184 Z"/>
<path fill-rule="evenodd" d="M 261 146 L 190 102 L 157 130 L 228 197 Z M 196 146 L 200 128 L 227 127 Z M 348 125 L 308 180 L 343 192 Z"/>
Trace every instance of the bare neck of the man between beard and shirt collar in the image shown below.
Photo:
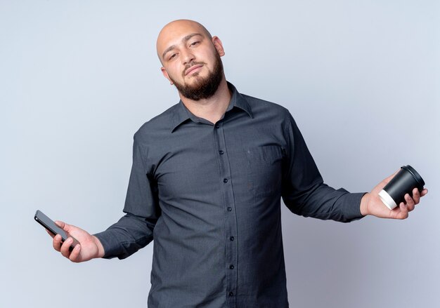
<path fill-rule="evenodd" d="M 231 101 L 231 91 L 229 91 L 228 83 L 224 78 L 216 93 L 212 97 L 203 100 L 189 100 L 180 95 L 180 98 L 188 110 L 198 116 L 206 119 L 211 123 L 216 123 L 226 112 L 229 102 Z"/>

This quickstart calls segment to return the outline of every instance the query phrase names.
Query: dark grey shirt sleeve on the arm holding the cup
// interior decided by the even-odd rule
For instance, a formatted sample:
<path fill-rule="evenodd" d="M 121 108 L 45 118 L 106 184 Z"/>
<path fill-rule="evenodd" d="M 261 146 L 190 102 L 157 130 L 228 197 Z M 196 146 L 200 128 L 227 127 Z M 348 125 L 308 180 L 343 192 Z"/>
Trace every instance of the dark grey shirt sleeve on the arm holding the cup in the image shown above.
<path fill-rule="evenodd" d="M 287 208 L 297 215 L 322 220 L 351 222 L 361 219 L 360 205 L 365 193 L 351 194 L 343 188 L 334 189 L 323 182 L 295 120 L 287 113 L 282 191 Z"/>

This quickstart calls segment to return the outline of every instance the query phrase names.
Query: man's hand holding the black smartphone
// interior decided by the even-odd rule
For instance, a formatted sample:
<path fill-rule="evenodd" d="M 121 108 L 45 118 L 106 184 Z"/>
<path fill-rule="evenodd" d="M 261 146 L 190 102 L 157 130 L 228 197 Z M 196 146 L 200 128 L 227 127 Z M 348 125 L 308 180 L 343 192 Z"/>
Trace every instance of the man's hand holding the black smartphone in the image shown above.
<path fill-rule="evenodd" d="M 64 243 L 61 243 L 61 236 L 57 234 L 53 236 L 51 232 L 48 232 L 53 237 L 53 248 L 61 253 L 64 257 L 67 257 L 72 262 L 84 262 L 89 261 L 96 257 L 104 256 L 104 248 L 101 241 L 96 236 L 89 234 L 83 229 L 75 227 L 73 225 L 67 225 L 65 222 L 56 221 L 58 227 L 63 229 L 67 235 L 75 237 L 79 241 L 79 245 L 70 251 L 70 244 L 72 244 L 72 238 L 68 237 Z"/>

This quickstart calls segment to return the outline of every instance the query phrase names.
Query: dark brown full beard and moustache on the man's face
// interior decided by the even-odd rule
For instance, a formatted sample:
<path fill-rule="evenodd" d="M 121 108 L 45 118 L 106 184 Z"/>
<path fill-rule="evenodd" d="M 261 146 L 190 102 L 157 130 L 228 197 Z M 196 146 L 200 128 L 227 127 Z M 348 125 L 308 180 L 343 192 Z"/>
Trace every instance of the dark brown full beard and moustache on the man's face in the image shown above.
<path fill-rule="evenodd" d="M 199 64 L 205 65 L 206 63 L 191 62 L 188 67 Z M 219 88 L 221 79 L 223 79 L 223 63 L 221 63 L 219 53 L 216 53 L 214 69 L 212 69 L 212 71 L 208 71 L 208 76 L 203 78 L 199 76 L 197 72 L 193 74 L 192 77 L 194 79 L 193 84 L 176 82 L 171 78 L 171 76 L 169 79 L 173 81 L 174 86 L 176 86 L 179 93 L 185 98 L 190 100 L 202 100 L 212 97 L 212 95 L 214 95 Z"/>

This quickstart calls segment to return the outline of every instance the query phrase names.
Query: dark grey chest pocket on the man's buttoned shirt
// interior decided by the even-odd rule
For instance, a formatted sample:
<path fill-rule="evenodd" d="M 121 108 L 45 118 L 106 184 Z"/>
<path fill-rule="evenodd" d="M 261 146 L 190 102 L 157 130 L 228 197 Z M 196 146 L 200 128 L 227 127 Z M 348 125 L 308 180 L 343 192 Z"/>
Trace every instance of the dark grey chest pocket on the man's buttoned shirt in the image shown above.
<path fill-rule="evenodd" d="M 283 150 L 278 145 L 250 147 L 247 156 L 247 188 L 254 196 L 272 196 L 281 191 Z"/>

